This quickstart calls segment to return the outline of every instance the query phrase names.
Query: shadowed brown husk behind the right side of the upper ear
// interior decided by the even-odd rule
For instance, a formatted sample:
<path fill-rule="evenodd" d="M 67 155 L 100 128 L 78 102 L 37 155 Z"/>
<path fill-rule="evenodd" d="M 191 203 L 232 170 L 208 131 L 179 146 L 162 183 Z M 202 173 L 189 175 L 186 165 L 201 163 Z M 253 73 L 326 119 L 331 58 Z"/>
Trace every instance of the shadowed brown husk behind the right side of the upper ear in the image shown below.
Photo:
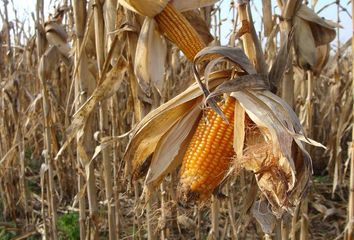
<path fill-rule="evenodd" d="M 183 2 L 183 1 L 179 1 Z M 209 27 L 206 24 L 205 20 L 199 15 L 197 11 L 187 11 L 182 13 L 186 17 L 188 22 L 192 27 L 197 31 L 199 36 L 202 38 L 203 42 L 208 45 L 214 40 L 213 35 L 209 31 Z"/>

